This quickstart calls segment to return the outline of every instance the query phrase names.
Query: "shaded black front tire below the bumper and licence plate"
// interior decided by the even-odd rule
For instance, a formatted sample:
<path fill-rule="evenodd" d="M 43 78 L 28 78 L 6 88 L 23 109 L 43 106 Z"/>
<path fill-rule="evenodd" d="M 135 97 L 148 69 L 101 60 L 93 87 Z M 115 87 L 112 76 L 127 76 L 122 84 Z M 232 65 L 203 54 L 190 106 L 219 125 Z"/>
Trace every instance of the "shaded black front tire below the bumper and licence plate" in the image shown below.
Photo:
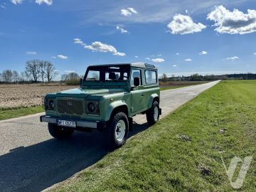
<path fill-rule="evenodd" d="M 59 127 L 53 123 L 48 123 L 48 130 L 50 135 L 56 139 L 67 139 L 74 132 L 73 129 L 70 129 L 68 127 Z"/>

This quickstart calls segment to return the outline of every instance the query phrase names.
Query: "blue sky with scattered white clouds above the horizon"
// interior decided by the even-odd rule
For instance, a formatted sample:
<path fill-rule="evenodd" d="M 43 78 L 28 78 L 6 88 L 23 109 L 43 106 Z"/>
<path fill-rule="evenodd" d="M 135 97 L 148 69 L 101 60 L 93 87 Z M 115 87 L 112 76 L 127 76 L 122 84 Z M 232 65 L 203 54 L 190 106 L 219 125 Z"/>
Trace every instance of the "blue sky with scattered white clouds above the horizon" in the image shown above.
<path fill-rule="evenodd" d="M 60 74 L 137 61 L 168 75 L 256 73 L 255 9 L 246 0 L 0 0 L 0 71 L 43 59 Z"/>

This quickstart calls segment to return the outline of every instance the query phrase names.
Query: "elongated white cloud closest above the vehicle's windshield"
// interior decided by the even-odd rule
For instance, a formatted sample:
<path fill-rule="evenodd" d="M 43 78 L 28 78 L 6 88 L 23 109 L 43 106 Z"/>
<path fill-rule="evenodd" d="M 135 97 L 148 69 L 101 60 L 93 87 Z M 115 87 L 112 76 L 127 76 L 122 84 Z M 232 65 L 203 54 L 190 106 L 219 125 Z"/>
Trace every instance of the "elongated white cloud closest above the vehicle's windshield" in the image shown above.
<path fill-rule="evenodd" d="M 118 52 L 117 49 L 114 48 L 114 46 L 110 46 L 105 43 L 101 43 L 100 41 L 92 42 L 92 45 L 84 46 L 84 48 L 92 50 L 92 51 L 96 51 L 96 52 L 104 52 L 104 53 L 110 52 L 113 55 L 118 55 L 118 56 L 125 55 L 125 53 Z"/>

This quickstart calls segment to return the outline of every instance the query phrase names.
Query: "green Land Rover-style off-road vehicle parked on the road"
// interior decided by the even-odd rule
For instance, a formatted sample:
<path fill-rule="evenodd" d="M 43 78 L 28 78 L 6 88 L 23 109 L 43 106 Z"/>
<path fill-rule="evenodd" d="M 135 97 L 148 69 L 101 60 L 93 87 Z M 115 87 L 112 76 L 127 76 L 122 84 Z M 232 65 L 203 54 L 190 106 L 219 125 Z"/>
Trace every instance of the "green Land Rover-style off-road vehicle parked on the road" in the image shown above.
<path fill-rule="evenodd" d="M 159 120 L 157 68 L 146 63 L 90 65 L 80 87 L 46 95 L 50 134 L 65 139 L 76 131 L 98 129 L 108 144 L 122 146 L 132 131 L 132 117 L 146 114 L 149 125 Z"/>

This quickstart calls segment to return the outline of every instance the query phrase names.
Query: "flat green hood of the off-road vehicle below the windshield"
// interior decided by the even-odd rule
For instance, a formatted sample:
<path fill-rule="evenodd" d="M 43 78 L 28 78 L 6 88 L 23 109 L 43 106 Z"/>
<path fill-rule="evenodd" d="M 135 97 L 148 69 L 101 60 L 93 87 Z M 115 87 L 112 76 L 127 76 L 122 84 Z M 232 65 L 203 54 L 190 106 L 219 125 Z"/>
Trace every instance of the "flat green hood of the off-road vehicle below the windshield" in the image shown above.
<path fill-rule="evenodd" d="M 125 89 L 82 89 L 65 90 L 57 92 L 57 97 L 87 97 L 88 95 L 112 94 L 114 92 L 124 92 Z"/>

